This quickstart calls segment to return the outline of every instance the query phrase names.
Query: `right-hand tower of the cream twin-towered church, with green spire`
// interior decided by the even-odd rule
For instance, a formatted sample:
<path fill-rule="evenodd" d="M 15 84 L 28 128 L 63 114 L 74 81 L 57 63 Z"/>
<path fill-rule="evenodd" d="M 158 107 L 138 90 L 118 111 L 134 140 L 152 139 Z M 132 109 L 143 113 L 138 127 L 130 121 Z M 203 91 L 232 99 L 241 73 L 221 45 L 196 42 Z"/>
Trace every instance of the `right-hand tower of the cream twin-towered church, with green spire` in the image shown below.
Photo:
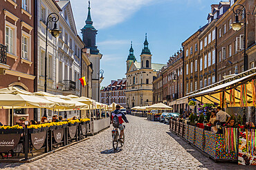
<path fill-rule="evenodd" d="M 149 50 L 149 43 L 147 42 L 147 33 L 144 41 L 144 48 L 140 54 L 140 68 L 152 69 L 152 54 Z"/>

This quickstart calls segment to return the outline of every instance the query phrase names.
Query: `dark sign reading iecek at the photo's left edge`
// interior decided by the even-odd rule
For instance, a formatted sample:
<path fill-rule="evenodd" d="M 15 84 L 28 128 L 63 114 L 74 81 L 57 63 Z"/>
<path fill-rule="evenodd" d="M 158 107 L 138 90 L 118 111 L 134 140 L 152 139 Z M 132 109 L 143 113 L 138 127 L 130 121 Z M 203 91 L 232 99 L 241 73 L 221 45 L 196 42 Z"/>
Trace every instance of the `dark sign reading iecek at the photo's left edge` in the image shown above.
<path fill-rule="evenodd" d="M 0 135 L 0 152 L 6 152 L 14 149 L 21 138 L 21 134 L 1 134 Z"/>

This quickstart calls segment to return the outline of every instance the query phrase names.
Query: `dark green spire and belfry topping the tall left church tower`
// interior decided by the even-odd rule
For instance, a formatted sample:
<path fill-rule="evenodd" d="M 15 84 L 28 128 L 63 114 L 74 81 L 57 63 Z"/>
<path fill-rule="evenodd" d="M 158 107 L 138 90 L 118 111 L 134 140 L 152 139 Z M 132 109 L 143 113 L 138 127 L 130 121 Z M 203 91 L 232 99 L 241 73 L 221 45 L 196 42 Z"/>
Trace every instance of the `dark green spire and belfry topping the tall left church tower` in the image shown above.
<path fill-rule="evenodd" d="M 91 7 L 90 7 L 90 1 L 88 6 L 88 14 L 87 19 L 85 21 L 86 25 L 84 25 L 84 28 L 82 28 L 82 41 L 85 44 L 86 48 L 89 48 L 91 51 L 91 54 L 99 54 L 100 51 L 98 50 L 98 47 L 96 46 L 96 34 L 98 30 L 96 30 L 93 27 L 93 20 L 91 19 Z"/>

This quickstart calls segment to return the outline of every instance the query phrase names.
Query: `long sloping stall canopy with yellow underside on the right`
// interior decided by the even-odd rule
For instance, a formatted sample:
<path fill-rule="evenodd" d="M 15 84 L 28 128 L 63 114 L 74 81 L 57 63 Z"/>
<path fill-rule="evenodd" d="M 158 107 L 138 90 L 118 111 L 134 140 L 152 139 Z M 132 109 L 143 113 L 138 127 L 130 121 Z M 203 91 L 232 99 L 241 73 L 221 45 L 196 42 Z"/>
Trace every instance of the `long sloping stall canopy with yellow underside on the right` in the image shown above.
<path fill-rule="evenodd" d="M 255 94 L 256 68 L 253 68 L 192 92 L 184 98 L 194 98 L 201 103 L 218 103 L 223 107 L 244 107 L 256 106 Z"/>

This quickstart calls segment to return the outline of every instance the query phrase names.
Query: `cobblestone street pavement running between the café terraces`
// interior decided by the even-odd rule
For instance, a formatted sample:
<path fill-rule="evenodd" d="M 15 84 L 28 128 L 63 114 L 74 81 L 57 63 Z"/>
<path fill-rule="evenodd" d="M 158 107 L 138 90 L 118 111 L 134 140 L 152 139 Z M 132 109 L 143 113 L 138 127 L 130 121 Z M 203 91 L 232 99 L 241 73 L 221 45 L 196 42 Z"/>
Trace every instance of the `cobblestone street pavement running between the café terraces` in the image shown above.
<path fill-rule="evenodd" d="M 215 163 L 169 133 L 169 126 L 127 116 L 125 146 L 112 149 L 112 127 L 62 151 L 26 164 L 1 164 L 6 169 L 253 169 Z"/>

